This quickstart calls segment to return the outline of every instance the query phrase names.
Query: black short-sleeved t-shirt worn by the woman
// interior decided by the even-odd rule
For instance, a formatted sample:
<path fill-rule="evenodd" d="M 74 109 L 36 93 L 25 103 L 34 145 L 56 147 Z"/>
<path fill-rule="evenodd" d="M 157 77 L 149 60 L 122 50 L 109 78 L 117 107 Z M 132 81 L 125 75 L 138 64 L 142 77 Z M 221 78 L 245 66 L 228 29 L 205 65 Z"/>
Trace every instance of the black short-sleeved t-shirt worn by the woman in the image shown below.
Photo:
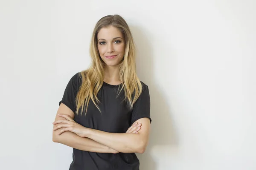
<path fill-rule="evenodd" d="M 75 99 L 81 82 L 79 73 L 76 73 L 68 82 L 59 105 L 62 102 L 75 113 Z M 84 127 L 110 133 L 125 133 L 140 118 L 147 117 L 151 122 L 148 86 L 143 82 L 141 84 L 143 92 L 131 110 L 127 102 L 123 102 L 125 97 L 123 91 L 116 97 L 119 85 L 103 82 L 97 95 L 102 113 L 90 100 L 86 116 L 84 116 L 85 111 L 82 115 L 75 114 L 75 122 Z M 139 170 L 139 166 L 140 162 L 135 153 L 95 153 L 73 148 L 73 161 L 69 170 Z"/>

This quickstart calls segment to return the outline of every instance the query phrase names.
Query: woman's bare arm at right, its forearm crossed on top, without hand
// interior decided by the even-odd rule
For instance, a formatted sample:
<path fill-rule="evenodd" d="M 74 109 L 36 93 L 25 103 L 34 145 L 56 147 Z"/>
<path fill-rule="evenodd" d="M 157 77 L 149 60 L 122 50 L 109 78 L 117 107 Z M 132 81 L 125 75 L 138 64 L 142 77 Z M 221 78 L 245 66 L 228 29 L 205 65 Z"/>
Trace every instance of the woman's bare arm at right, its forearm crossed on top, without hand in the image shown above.
<path fill-rule="evenodd" d="M 138 119 L 141 129 L 135 133 L 108 133 L 100 130 L 86 128 L 84 135 L 96 142 L 104 144 L 122 153 L 144 153 L 148 144 L 150 132 L 150 120 L 148 118 Z"/>

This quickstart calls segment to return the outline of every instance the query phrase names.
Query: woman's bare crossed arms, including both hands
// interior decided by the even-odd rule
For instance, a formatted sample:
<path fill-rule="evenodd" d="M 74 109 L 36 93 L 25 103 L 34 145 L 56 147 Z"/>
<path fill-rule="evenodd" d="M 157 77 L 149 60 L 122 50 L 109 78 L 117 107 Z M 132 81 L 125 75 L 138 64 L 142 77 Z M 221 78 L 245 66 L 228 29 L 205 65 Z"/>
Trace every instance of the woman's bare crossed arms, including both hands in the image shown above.
<path fill-rule="evenodd" d="M 138 119 L 126 133 L 108 133 L 83 127 L 73 121 L 74 113 L 61 103 L 53 123 L 52 141 L 98 153 L 144 153 L 148 144 L 150 120 Z"/>

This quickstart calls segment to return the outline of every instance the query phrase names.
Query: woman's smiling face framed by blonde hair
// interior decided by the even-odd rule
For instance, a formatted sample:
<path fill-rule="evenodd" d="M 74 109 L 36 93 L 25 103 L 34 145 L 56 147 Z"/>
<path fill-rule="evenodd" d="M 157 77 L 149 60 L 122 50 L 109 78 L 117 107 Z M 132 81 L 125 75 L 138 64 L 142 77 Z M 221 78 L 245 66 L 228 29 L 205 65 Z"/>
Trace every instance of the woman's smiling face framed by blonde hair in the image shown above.
<path fill-rule="evenodd" d="M 113 26 L 101 28 L 97 38 L 99 55 L 106 65 L 115 66 L 122 62 L 125 54 L 125 39 L 118 28 Z"/>

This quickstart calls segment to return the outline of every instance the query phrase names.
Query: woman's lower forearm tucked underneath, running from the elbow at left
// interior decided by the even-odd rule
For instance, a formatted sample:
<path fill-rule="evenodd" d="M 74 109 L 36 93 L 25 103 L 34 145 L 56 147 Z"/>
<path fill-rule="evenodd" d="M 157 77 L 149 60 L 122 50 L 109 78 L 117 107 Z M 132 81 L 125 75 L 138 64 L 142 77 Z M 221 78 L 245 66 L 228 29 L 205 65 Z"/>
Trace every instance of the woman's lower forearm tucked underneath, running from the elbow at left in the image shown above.
<path fill-rule="evenodd" d="M 60 130 L 60 129 L 58 129 Z M 58 135 L 58 130 L 53 131 L 52 140 L 53 142 L 65 144 L 69 147 L 73 147 L 79 150 L 97 152 L 97 153 L 117 153 L 116 150 L 111 149 L 99 142 L 96 142 L 89 138 L 82 138 L 76 133 L 67 131 Z"/>

